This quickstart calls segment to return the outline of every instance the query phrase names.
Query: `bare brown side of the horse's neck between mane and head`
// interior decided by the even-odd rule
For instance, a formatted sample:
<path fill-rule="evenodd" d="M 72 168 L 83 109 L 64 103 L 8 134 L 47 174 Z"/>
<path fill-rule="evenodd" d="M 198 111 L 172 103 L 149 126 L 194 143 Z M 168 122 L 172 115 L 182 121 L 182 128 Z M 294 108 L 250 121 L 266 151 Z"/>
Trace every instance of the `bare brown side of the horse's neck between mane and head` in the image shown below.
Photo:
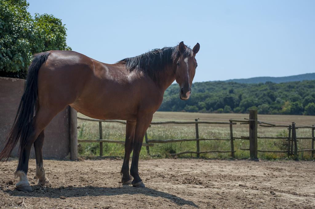
<path fill-rule="evenodd" d="M 157 84 L 158 86 L 165 91 L 175 80 L 175 69 L 176 64 L 172 63 L 165 66 L 162 73 L 158 75 Z"/>

